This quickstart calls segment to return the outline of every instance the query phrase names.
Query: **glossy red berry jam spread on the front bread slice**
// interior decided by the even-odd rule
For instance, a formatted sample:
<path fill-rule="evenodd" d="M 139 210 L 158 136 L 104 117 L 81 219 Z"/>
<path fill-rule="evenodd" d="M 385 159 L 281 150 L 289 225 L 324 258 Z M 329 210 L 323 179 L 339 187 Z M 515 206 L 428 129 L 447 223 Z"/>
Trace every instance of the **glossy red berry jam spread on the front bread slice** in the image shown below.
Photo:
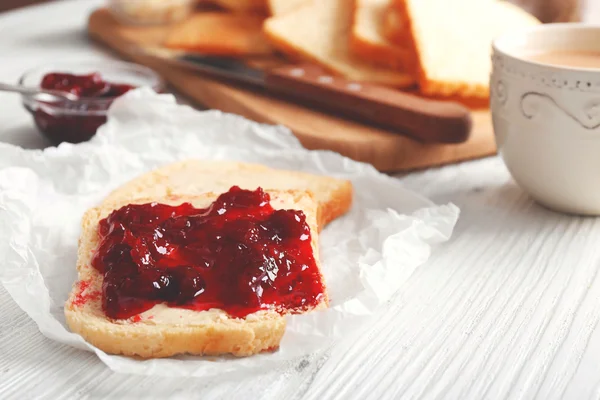
<path fill-rule="evenodd" d="M 92 265 L 113 319 L 158 303 L 233 317 L 302 311 L 324 296 L 304 213 L 274 210 L 260 188 L 234 186 L 205 209 L 127 205 L 100 221 L 99 235 Z"/>

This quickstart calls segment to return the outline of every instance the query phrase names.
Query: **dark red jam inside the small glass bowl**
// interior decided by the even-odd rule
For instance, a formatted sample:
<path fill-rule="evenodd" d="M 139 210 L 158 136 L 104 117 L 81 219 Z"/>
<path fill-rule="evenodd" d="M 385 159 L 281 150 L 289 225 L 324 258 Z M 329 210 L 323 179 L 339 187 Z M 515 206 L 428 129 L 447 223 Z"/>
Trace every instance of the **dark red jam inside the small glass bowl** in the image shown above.
<path fill-rule="evenodd" d="M 40 131 L 54 143 L 89 140 L 106 122 L 105 112 L 111 100 L 134 89 L 130 85 L 106 82 L 98 73 L 50 73 L 43 77 L 41 87 L 73 93 L 82 98 L 74 102 L 42 103 L 31 110 Z"/>

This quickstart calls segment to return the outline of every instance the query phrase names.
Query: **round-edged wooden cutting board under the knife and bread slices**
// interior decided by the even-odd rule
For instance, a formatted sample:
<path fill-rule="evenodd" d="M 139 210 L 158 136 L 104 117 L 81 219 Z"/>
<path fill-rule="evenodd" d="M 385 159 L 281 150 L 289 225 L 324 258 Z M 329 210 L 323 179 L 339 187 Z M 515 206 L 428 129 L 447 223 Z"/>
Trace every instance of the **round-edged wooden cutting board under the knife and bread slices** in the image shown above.
<path fill-rule="evenodd" d="M 154 69 L 174 88 L 200 105 L 240 114 L 258 122 L 285 125 L 308 149 L 333 150 L 387 172 L 454 163 L 496 152 L 487 109 L 474 111 L 474 130 L 468 142 L 423 144 L 386 130 L 216 81 L 134 50 L 135 45 L 139 44 L 160 44 L 168 29 L 162 26 L 124 26 L 105 9 L 95 11 L 88 24 L 92 38 L 117 51 L 122 57 Z"/>

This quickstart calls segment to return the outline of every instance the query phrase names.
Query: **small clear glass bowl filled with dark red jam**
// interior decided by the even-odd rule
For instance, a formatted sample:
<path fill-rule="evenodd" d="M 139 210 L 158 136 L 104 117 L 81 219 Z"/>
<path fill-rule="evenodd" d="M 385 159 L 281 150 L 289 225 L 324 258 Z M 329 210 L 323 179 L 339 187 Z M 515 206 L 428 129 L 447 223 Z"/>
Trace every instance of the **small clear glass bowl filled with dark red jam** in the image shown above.
<path fill-rule="evenodd" d="M 125 62 L 50 64 L 27 72 L 19 84 L 72 93 L 76 101 L 43 95 L 23 96 L 39 131 L 53 144 L 91 139 L 106 122 L 112 102 L 129 90 L 151 87 L 159 92 L 163 81 L 151 69 Z"/>

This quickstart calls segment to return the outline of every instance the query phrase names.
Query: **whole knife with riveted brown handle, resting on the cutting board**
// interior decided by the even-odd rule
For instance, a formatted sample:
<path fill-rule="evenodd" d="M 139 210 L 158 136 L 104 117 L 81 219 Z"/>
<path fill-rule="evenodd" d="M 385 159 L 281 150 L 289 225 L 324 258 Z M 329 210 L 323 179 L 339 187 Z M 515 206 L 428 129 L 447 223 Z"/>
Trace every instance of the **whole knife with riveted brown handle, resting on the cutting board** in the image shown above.
<path fill-rule="evenodd" d="M 461 104 L 429 100 L 384 86 L 349 81 L 311 64 L 286 65 L 263 71 L 234 58 L 156 47 L 139 50 L 174 65 L 252 85 L 267 93 L 426 143 L 461 143 L 468 140 L 472 129 L 471 113 Z"/>

